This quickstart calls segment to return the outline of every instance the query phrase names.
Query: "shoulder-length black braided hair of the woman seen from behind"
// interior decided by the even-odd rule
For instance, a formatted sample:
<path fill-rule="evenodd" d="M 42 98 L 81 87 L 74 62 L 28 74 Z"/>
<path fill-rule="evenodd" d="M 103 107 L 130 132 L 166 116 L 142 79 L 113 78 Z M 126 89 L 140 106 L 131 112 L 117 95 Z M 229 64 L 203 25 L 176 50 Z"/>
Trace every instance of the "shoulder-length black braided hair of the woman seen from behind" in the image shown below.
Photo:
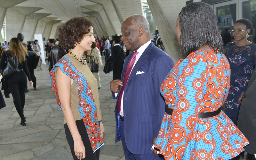
<path fill-rule="evenodd" d="M 196 2 L 186 5 L 180 11 L 179 23 L 180 46 L 187 55 L 205 45 L 223 52 L 217 17 L 209 4 Z"/>

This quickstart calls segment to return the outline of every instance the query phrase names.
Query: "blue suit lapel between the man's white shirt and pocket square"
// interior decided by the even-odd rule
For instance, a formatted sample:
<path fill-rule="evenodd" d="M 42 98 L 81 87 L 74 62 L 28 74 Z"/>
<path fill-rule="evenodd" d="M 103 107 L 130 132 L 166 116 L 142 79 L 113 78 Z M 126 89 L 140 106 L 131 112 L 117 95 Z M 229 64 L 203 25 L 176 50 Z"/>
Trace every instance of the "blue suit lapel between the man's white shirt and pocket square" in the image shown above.
<path fill-rule="evenodd" d="M 131 81 L 132 77 L 137 73 L 138 69 L 143 65 L 143 63 L 145 63 L 147 61 L 147 59 L 149 58 L 149 53 L 151 52 L 152 47 L 153 47 L 153 43 L 151 42 L 148 45 L 148 47 L 145 49 L 145 51 L 142 53 L 142 55 L 140 56 L 140 59 L 138 60 L 138 62 L 133 67 L 126 86 Z"/>

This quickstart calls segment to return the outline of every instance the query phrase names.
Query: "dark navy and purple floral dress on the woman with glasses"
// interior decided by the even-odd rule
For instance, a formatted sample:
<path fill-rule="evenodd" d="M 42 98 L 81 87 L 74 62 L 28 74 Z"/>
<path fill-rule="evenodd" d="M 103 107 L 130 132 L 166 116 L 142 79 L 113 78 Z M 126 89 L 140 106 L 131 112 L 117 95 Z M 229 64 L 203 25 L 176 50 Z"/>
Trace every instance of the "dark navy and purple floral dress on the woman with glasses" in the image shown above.
<path fill-rule="evenodd" d="M 230 45 L 231 47 L 228 52 Z M 252 71 L 256 66 L 256 45 L 252 43 L 239 47 L 235 43 L 228 43 L 225 46 L 225 55 L 228 58 L 231 70 L 230 89 L 225 102 L 225 109 L 228 117 L 237 124 L 240 109 L 238 98 L 245 91 Z"/>

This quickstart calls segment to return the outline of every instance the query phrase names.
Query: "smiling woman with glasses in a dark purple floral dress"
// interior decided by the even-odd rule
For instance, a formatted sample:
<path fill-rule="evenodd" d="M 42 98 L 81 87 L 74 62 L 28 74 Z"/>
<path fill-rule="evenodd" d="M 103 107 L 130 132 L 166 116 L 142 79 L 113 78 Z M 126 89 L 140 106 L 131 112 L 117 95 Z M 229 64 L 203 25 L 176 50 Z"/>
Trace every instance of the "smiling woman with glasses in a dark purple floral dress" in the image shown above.
<path fill-rule="evenodd" d="M 235 22 L 232 33 L 235 43 L 228 43 L 225 55 L 230 64 L 230 89 L 225 102 L 226 114 L 237 124 L 240 109 L 239 97 L 245 91 L 253 69 L 256 66 L 256 45 L 248 41 L 252 23 L 248 19 Z"/>

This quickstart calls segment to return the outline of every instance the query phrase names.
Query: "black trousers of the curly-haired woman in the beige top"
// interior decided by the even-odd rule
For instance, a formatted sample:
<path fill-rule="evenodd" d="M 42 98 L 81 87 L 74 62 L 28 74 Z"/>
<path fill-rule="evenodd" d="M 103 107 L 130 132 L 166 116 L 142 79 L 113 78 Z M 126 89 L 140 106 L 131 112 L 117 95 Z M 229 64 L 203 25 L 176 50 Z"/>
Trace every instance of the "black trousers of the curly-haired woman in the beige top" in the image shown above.
<path fill-rule="evenodd" d="M 83 141 L 84 147 L 85 147 L 85 158 L 82 160 L 99 160 L 100 159 L 100 149 L 96 150 L 96 152 L 93 153 L 92 146 L 91 146 L 89 137 L 87 135 L 87 131 L 85 129 L 83 120 L 77 120 L 76 127 L 82 137 L 82 141 Z M 70 146 L 72 156 L 74 157 L 74 160 L 78 160 L 77 156 L 75 155 L 75 151 L 74 151 L 74 140 L 70 133 L 68 125 L 64 124 L 64 128 L 65 128 L 65 133 L 66 133 L 68 144 Z"/>

